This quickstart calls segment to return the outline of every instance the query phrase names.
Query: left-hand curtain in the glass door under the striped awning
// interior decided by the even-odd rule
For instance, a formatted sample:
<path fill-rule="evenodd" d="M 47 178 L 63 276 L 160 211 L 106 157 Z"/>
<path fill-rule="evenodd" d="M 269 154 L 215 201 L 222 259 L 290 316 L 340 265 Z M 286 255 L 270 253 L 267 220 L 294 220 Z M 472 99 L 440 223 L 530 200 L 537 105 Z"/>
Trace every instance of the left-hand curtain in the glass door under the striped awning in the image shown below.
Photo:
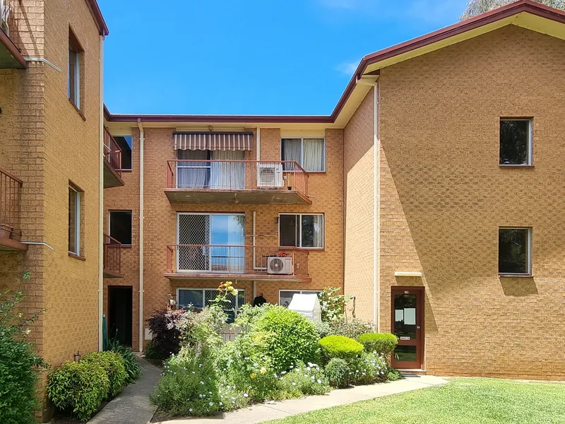
<path fill-rule="evenodd" d="M 177 150 L 177 187 L 179 189 L 207 189 L 210 186 L 210 162 L 208 151 Z M 191 162 L 203 160 L 203 162 Z"/>

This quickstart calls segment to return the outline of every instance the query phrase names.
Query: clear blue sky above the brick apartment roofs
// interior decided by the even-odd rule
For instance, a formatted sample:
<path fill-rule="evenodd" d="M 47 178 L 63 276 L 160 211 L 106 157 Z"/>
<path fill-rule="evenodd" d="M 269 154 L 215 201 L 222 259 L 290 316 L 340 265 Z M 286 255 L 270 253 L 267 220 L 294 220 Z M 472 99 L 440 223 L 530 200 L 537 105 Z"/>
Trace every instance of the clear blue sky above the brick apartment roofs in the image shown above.
<path fill-rule="evenodd" d="M 114 113 L 330 114 L 359 60 L 465 0 L 98 0 Z"/>

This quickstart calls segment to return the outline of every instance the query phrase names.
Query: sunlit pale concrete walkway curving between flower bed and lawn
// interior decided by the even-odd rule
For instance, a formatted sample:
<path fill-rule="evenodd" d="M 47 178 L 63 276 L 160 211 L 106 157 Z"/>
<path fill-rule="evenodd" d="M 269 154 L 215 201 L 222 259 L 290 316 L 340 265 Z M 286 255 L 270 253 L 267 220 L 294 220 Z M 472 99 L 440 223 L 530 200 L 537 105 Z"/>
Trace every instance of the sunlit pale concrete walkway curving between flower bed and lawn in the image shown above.
<path fill-rule="evenodd" d="M 353 402 L 366 401 L 367 399 L 388 396 L 389 394 L 403 393 L 404 391 L 423 389 L 424 387 L 438 386 L 444 383 L 446 383 L 446 380 L 432 375 L 410 376 L 398 380 L 398 382 L 333 390 L 325 396 L 308 396 L 303 399 L 258 404 L 250 408 L 240 409 L 239 411 L 222 413 L 215 417 L 180 418 L 162 421 L 162 424 L 263 423 L 264 421 L 293 416 L 297 413 L 316 411 L 316 409 L 330 408 L 331 406 L 352 404 Z M 121 421 L 119 421 L 119 423 L 121 423 Z"/>

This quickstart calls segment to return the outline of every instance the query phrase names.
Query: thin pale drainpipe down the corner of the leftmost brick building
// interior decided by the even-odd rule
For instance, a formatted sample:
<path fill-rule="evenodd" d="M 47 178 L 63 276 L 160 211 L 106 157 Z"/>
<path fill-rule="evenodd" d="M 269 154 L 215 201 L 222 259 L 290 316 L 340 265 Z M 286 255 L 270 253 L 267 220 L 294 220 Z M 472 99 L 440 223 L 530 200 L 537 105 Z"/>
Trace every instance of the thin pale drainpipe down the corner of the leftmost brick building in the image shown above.
<path fill-rule="evenodd" d="M 98 153 L 98 351 L 104 348 L 102 316 L 104 314 L 104 37 L 100 35 L 100 141 Z"/>

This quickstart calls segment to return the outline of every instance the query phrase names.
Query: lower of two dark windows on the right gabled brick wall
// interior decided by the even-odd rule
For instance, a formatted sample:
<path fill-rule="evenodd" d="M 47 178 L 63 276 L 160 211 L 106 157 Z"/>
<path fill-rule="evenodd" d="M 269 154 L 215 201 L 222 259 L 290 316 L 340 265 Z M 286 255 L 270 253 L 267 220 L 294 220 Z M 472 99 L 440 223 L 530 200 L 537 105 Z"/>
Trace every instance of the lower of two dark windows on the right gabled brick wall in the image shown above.
<path fill-rule="evenodd" d="M 531 228 L 499 228 L 499 274 L 531 274 Z"/>

